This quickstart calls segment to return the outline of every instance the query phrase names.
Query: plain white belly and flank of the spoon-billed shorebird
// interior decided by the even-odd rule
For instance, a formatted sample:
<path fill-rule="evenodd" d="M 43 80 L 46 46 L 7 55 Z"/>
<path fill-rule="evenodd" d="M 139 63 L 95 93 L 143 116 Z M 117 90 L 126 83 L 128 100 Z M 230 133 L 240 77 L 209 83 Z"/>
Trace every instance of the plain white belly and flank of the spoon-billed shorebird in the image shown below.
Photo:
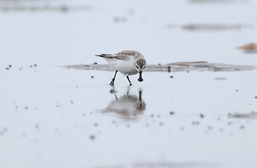
<path fill-rule="evenodd" d="M 134 59 L 129 59 L 129 60 L 113 60 L 110 58 L 104 58 L 104 59 L 107 60 L 111 68 L 116 69 L 122 74 L 135 75 L 138 73 L 138 71 L 134 67 Z"/>

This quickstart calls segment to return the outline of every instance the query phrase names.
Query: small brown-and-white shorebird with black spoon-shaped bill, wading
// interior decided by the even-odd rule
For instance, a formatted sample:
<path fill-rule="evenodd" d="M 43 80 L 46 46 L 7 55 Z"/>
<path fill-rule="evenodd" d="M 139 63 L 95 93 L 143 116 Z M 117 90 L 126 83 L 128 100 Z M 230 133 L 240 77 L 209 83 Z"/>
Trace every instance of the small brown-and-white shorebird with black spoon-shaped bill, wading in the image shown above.
<path fill-rule="evenodd" d="M 140 52 L 125 50 L 116 54 L 101 54 L 95 56 L 102 57 L 109 63 L 111 68 L 116 70 L 110 85 L 114 85 L 115 76 L 118 71 L 124 74 L 124 76 L 127 76 L 129 82 L 129 75 L 135 75 L 137 73 L 139 73 L 138 81 L 143 81 L 142 72 L 146 68 L 146 59 Z M 132 85 L 131 82 L 130 85 Z"/>

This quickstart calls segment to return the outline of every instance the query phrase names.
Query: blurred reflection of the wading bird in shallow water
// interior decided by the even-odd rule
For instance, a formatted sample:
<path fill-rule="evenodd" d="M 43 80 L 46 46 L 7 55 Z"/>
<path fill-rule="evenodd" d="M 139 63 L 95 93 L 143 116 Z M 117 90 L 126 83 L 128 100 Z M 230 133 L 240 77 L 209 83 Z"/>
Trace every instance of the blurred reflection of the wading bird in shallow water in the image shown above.
<path fill-rule="evenodd" d="M 112 87 L 110 93 L 115 95 L 115 100 L 112 100 L 103 112 L 114 112 L 122 119 L 138 119 L 146 109 L 146 103 L 142 100 L 142 90 L 139 89 L 138 91 L 139 97 L 129 94 L 129 91 L 130 87 L 128 87 L 126 94 L 118 98 L 115 88 Z"/>

